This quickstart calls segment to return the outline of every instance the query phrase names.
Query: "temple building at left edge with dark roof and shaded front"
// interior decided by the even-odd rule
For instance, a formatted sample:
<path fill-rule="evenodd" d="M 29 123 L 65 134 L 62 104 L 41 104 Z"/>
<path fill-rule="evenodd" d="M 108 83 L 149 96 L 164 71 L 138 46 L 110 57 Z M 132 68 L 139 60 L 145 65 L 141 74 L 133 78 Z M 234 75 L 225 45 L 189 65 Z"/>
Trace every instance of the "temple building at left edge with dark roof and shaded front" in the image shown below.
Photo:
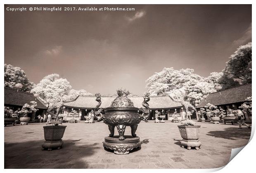
<path fill-rule="evenodd" d="M 38 111 L 28 114 L 31 121 L 34 121 L 38 115 L 44 116 L 47 111 L 45 104 L 38 98 L 35 97 L 30 92 L 18 91 L 17 89 L 12 89 L 5 87 L 5 106 L 9 107 L 13 111 L 19 111 L 24 106 L 24 104 L 30 104 L 31 101 L 35 101 Z"/>

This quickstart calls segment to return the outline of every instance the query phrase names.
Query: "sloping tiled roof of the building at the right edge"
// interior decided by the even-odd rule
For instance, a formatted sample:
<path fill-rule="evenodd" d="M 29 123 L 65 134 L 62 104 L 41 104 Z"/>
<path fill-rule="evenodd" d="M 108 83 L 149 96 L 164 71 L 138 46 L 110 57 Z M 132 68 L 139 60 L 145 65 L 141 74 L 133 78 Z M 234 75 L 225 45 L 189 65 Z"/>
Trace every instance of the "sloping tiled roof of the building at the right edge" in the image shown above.
<path fill-rule="evenodd" d="M 209 94 L 206 99 L 202 100 L 197 105 L 197 108 L 204 107 L 207 103 L 218 106 L 244 102 L 247 100 L 247 97 L 251 97 L 251 83 L 219 92 L 213 92 Z"/>

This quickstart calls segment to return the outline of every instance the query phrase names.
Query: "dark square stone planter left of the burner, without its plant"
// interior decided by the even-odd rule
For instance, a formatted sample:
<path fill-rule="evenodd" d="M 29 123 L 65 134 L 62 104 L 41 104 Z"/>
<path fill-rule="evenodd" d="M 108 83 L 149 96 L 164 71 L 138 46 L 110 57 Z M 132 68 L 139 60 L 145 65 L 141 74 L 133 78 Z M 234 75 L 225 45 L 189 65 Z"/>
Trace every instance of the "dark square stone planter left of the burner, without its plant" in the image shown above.
<path fill-rule="evenodd" d="M 63 145 L 62 137 L 66 126 L 43 126 L 45 134 L 45 142 L 42 145 L 42 150 L 47 148 L 51 151 L 52 148 L 60 149 Z"/>

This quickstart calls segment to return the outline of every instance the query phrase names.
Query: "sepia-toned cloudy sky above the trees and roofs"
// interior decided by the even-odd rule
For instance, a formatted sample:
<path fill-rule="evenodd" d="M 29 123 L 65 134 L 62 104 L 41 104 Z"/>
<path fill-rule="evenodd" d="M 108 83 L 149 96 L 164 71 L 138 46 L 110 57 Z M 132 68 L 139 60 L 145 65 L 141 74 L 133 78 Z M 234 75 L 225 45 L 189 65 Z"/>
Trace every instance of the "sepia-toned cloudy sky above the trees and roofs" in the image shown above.
<path fill-rule="evenodd" d="M 251 5 L 5 5 L 5 64 L 19 66 L 36 84 L 58 73 L 73 89 L 93 94 L 118 88 L 142 94 L 147 78 L 164 67 L 190 68 L 207 77 L 222 71 L 230 55 L 248 42 Z"/>

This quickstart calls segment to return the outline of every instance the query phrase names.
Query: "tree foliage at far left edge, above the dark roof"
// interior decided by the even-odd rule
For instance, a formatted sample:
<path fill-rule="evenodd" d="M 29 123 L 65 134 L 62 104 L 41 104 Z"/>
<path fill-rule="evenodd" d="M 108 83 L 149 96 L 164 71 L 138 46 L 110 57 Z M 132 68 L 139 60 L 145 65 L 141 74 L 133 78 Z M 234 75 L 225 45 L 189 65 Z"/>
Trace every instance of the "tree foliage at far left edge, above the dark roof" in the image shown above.
<path fill-rule="evenodd" d="M 21 68 L 14 67 L 11 64 L 5 64 L 4 75 L 5 87 L 15 88 L 15 85 L 20 83 L 23 85 L 20 88 L 21 91 L 30 91 L 34 86 L 34 83 L 28 81 L 28 77 Z"/>

